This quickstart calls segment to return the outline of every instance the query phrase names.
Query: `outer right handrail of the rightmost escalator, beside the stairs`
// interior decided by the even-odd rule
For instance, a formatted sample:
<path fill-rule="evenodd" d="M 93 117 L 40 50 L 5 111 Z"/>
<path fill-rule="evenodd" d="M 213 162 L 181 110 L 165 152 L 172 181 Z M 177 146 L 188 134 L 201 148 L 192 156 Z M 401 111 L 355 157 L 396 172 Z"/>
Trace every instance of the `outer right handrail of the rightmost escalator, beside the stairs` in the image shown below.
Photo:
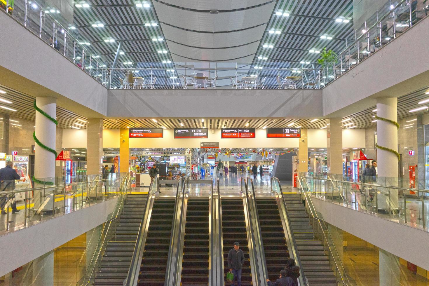
<path fill-rule="evenodd" d="M 278 185 L 278 190 L 280 191 L 280 194 L 278 194 L 276 191 L 273 190 L 274 184 Z M 289 257 L 291 257 L 290 254 L 292 253 L 292 256 L 293 256 L 293 259 L 295 260 L 296 265 L 299 266 L 298 286 L 307 286 L 309 285 L 309 283 L 307 278 L 305 277 L 304 270 L 302 269 L 302 263 L 299 257 L 298 246 L 296 245 L 295 236 L 293 235 L 292 223 L 290 223 L 286 202 L 284 201 L 283 191 L 281 190 L 280 181 L 276 177 L 271 177 L 271 192 L 275 193 L 280 197 L 279 201 L 280 201 L 281 207 L 284 208 L 284 211 L 285 211 L 285 213 L 282 214 L 281 210 L 279 209 L 280 215 L 282 216 L 286 224 L 284 226 L 284 228 L 286 229 L 283 229 L 283 231 L 284 231 L 286 241 L 288 243 Z"/>

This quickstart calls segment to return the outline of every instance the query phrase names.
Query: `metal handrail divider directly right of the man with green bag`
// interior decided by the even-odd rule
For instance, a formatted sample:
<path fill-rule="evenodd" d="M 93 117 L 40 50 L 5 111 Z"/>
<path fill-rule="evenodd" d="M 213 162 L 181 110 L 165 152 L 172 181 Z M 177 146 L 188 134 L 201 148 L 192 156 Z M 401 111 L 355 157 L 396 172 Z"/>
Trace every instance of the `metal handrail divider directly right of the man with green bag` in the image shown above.
<path fill-rule="evenodd" d="M 268 277 L 268 271 L 265 263 L 265 252 L 262 246 L 257 209 L 255 209 L 256 204 L 253 197 L 254 192 L 252 194 L 248 191 L 248 183 L 250 182 L 249 179 L 250 178 L 248 178 L 248 181 L 246 182 L 245 178 L 241 178 L 241 188 L 246 220 L 246 230 L 248 232 L 248 241 L 251 244 L 249 246 L 249 258 L 251 261 L 252 280 L 255 285 L 267 285 L 266 277 Z"/>

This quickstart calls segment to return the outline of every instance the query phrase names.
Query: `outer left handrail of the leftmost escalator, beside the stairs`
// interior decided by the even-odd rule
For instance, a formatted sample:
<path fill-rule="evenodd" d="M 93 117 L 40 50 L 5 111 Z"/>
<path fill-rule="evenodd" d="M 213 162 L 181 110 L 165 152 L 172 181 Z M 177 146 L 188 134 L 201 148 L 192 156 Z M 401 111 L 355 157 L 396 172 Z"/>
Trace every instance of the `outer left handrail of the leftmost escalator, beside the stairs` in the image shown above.
<path fill-rule="evenodd" d="M 123 283 L 124 286 L 136 286 L 139 280 L 140 266 L 142 264 L 142 257 L 145 250 L 149 222 L 152 215 L 152 207 L 154 200 L 156 199 L 156 192 L 159 193 L 159 179 L 152 178 L 146 199 L 145 211 L 143 212 L 142 221 L 140 222 L 139 232 L 137 234 L 136 244 L 134 245 L 130 268 L 128 269 L 127 277 Z"/>

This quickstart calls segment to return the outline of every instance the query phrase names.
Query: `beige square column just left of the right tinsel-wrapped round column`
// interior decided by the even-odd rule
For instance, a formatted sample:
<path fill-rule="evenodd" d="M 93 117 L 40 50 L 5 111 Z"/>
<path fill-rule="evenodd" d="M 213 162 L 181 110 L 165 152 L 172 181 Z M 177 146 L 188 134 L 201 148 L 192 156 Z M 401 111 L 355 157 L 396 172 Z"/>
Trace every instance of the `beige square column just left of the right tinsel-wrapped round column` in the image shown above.
<path fill-rule="evenodd" d="M 328 173 L 343 173 L 343 129 L 341 118 L 326 120 L 326 146 Z"/>

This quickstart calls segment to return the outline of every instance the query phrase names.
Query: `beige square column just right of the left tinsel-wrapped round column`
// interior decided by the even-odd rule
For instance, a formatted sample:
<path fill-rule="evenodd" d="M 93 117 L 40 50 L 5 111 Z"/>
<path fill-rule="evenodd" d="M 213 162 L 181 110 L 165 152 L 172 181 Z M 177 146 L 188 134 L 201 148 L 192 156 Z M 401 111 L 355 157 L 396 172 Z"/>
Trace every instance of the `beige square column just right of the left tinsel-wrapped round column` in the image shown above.
<path fill-rule="evenodd" d="M 103 156 L 102 118 L 88 118 L 87 148 L 87 174 L 100 175 Z"/>

